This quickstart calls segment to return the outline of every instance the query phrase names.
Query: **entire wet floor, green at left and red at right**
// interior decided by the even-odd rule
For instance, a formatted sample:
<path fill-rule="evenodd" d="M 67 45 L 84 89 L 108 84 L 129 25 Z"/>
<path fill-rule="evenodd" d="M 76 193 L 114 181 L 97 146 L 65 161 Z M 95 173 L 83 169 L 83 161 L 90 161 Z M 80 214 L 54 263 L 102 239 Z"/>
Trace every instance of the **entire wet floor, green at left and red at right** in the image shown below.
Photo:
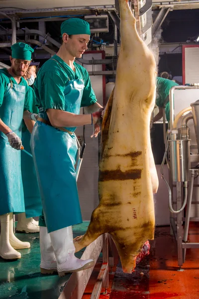
<path fill-rule="evenodd" d="M 84 234 L 88 222 L 74 227 L 74 237 Z M 30 249 L 19 250 L 21 259 L 0 259 L 0 299 L 58 299 L 70 274 L 40 274 L 39 234 L 16 234 L 31 243 Z M 189 240 L 199 242 L 199 224 L 191 225 Z M 82 252 L 78 254 L 80 257 Z M 90 299 L 102 259 L 93 271 L 83 299 Z M 109 288 L 102 289 L 100 299 L 199 299 L 199 249 L 188 249 L 184 271 L 178 271 L 177 246 L 170 227 L 156 228 L 150 256 L 132 274 L 124 274 L 121 265 L 109 268 Z"/>

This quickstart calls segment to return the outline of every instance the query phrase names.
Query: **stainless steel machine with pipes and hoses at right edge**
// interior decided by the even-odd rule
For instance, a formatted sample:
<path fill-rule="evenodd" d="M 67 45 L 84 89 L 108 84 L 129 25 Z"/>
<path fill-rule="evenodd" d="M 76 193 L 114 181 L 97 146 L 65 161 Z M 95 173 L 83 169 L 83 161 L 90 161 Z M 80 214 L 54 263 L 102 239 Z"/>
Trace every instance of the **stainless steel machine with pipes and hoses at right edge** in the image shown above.
<path fill-rule="evenodd" d="M 178 245 L 178 265 L 181 267 L 186 259 L 187 248 L 199 248 L 199 243 L 188 241 L 190 221 L 199 221 L 199 218 L 191 217 L 193 201 L 193 189 L 195 177 L 199 175 L 199 154 L 191 154 L 191 138 L 188 121 L 194 120 L 194 129 L 199 151 L 199 100 L 190 107 L 183 109 L 174 117 L 174 91 L 175 89 L 196 89 L 199 84 L 189 86 L 174 86 L 170 90 L 170 124 L 165 141 L 165 154 L 161 165 L 161 174 L 164 178 L 163 165 L 165 161 L 169 167 L 169 182 L 165 180 L 169 190 L 170 225 Z M 185 211 L 185 207 L 186 211 Z"/>

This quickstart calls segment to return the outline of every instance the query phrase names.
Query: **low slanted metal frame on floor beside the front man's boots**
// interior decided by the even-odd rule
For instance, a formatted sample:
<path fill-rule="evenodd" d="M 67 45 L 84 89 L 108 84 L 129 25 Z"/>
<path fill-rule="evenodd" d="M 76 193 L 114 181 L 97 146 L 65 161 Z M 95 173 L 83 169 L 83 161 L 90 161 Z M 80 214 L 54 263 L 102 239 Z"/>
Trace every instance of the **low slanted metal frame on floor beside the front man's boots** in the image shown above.
<path fill-rule="evenodd" d="M 95 264 L 100 256 L 102 250 L 103 263 L 100 269 L 94 291 L 92 293 L 92 299 L 98 299 L 100 297 L 101 288 L 105 290 L 108 288 L 108 234 L 101 235 L 97 240 L 92 242 L 82 255 L 82 259 L 93 259 Z M 93 268 L 74 272 L 68 280 L 62 294 L 59 299 L 81 299 L 86 286 L 89 282 L 90 276 L 93 272 Z"/>

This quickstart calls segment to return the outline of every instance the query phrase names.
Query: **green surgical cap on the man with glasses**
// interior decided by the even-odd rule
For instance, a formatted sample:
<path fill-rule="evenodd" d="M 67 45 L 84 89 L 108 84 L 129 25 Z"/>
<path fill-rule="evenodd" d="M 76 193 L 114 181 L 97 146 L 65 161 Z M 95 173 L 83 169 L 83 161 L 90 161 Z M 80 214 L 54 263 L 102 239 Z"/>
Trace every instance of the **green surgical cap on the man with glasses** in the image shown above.
<path fill-rule="evenodd" d="M 12 58 L 31 60 L 34 50 L 24 42 L 17 42 L 11 46 Z"/>

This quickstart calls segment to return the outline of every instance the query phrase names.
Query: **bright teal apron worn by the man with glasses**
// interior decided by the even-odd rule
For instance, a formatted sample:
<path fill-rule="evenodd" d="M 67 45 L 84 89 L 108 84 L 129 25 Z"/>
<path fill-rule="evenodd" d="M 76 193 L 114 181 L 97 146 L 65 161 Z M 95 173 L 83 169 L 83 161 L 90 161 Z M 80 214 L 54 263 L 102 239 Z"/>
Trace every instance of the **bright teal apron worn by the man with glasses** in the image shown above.
<path fill-rule="evenodd" d="M 25 86 L 8 84 L 0 106 L 0 119 L 21 138 Z M 11 148 L 0 132 L 0 215 L 25 212 L 21 179 L 21 151 Z"/>

